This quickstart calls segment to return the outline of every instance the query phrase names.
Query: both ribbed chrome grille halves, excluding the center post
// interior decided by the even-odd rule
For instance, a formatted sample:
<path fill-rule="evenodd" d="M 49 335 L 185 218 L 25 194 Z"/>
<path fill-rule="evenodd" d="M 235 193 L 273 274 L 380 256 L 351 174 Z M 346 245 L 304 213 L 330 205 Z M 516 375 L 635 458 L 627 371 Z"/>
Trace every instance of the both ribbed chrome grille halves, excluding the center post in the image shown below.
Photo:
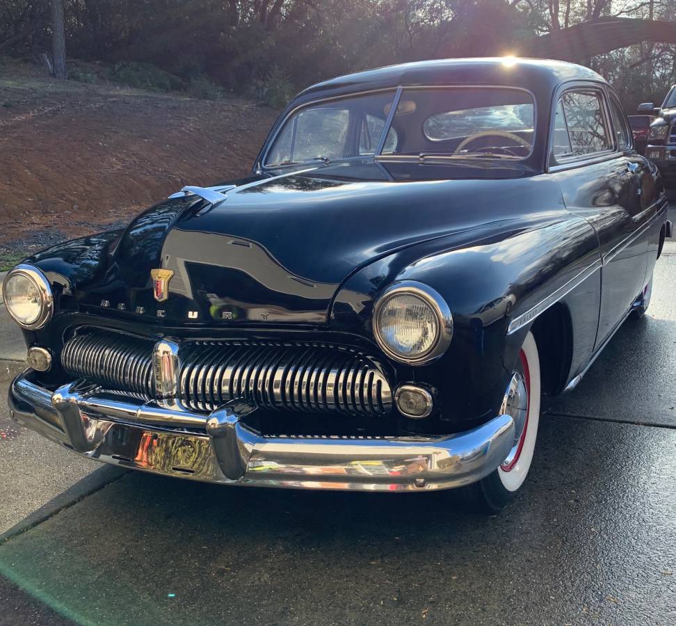
<path fill-rule="evenodd" d="M 153 342 L 115 332 L 78 335 L 61 356 L 68 374 L 154 396 Z M 179 347 L 179 399 L 211 411 L 234 398 L 275 410 L 387 415 L 392 390 L 378 362 L 335 344 L 189 341 Z"/>

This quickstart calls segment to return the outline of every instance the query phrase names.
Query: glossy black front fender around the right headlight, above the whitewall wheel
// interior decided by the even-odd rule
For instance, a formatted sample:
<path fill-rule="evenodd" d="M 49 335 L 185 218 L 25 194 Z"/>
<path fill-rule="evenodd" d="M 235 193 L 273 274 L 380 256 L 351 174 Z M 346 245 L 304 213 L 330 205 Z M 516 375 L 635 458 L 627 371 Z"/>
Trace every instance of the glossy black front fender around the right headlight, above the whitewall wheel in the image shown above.
<path fill-rule="evenodd" d="M 331 325 L 375 341 L 371 313 L 385 288 L 415 280 L 435 289 L 453 314 L 451 346 L 429 364 L 396 367 L 409 380 L 436 388 L 442 422 L 472 428 L 497 415 L 536 315 L 514 332 L 508 332 L 510 321 L 527 317 L 597 259 L 597 239 L 586 220 L 565 209 L 535 214 L 475 232 L 471 241 L 449 236 L 362 268 L 339 290 Z"/>

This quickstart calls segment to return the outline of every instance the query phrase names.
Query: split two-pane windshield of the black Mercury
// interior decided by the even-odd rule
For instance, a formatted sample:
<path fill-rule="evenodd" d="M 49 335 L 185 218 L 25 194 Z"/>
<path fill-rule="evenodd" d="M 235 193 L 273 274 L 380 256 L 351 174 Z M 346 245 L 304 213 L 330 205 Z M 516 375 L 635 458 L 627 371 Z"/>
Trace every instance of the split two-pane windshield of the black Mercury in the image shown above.
<path fill-rule="evenodd" d="M 375 155 L 524 159 L 531 154 L 535 103 L 507 87 L 405 88 L 387 129 L 394 91 L 311 104 L 284 122 L 264 165 L 282 167 Z"/>

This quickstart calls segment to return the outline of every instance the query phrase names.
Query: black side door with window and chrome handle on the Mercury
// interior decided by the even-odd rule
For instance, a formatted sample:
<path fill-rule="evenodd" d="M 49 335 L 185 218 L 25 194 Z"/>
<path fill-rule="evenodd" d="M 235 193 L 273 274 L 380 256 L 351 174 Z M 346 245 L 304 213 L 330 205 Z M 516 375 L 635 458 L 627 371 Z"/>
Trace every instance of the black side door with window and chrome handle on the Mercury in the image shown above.
<path fill-rule="evenodd" d="M 586 218 L 599 241 L 597 350 L 643 289 L 647 241 L 638 236 L 645 218 L 643 164 L 631 150 L 630 138 L 618 141 L 602 84 L 568 84 L 555 106 L 549 172 L 561 186 L 568 210 Z"/>

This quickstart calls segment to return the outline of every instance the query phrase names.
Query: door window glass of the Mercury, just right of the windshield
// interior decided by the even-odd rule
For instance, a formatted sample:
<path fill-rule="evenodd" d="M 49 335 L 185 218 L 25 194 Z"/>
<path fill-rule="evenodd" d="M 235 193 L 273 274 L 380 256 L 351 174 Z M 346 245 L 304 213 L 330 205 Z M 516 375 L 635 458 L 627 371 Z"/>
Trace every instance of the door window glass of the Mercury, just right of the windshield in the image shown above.
<path fill-rule="evenodd" d="M 567 91 L 561 97 L 572 156 L 613 149 L 601 95 L 595 90 Z"/>

